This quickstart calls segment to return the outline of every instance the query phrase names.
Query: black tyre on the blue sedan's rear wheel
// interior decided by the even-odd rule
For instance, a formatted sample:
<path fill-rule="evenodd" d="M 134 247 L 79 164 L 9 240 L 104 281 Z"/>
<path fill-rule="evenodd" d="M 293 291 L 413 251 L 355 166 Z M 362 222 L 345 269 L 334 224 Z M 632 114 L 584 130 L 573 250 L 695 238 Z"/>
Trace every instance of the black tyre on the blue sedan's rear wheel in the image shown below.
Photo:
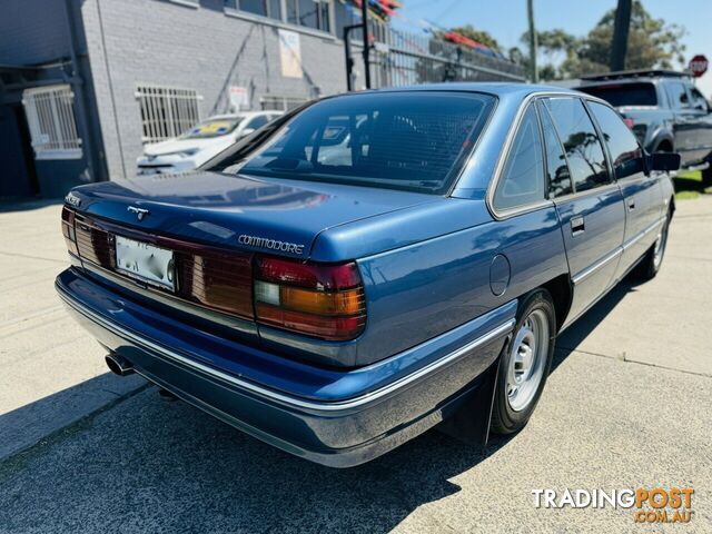
<path fill-rule="evenodd" d="M 526 329 L 527 319 L 532 322 L 532 317 L 536 317 L 537 322 L 546 323 L 546 333 L 540 336 L 546 338 L 546 348 L 537 346 L 536 359 L 541 365 L 542 375 L 538 378 L 538 385 L 534 389 L 534 384 L 530 385 L 530 393 L 525 397 L 523 405 L 515 406 L 515 397 L 511 396 L 511 392 L 516 395 L 515 386 L 513 387 L 511 372 L 516 367 L 516 358 L 518 348 L 522 346 L 517 339 L 523 330 Z M 497 374 L 497 384 L 495 387 L 494 402 L 492 408 L 492 432 L 496 434 L 512 434 L 521 431 L 536 408 L 538 398 L 544 390 L 546 377 L 552 365 L 554 356 L 554 344 L 556 339 L 556 310 L 551 294 L 546 289 L 536 289 L 528 294 L 517 310 L 516 325 L 512 333 L 512 339 L 502 350 L 500 357 L 500 372 Z M 538 340 L 537 340 L 538 343 Z M 516 354 L 515 354 L 516 353 Z M 513 358 L 515 360 L 513 362 Z M 541 360 L 538 358 L 542 358 Z M 512 366 L 512 367 L 511 367 Z"/>

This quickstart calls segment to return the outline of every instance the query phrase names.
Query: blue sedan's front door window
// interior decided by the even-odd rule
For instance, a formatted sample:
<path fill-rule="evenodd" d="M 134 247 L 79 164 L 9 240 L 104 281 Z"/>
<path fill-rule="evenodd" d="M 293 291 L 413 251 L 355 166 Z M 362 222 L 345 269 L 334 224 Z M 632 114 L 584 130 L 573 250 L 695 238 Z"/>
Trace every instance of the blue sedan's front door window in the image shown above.
<path fill-rule="evenodd" d="M 623 119 L 607 106 L 589 102 L 609 146 L 613 171 L 617 179 L 643 172 L 643 150 Z"/>

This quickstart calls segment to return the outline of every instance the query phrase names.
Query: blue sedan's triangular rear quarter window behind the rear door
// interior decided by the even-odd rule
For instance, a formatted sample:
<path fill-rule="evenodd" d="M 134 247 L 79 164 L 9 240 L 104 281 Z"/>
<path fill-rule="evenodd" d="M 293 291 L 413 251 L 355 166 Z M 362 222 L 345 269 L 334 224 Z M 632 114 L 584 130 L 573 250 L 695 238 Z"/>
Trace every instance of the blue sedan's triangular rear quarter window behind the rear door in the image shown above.
<path fill-rule="evenodd" d="M 534 106 L 522 117 L 494 194 L 494 208 L 506 210 L 546 198 L 542 139 Z"/>

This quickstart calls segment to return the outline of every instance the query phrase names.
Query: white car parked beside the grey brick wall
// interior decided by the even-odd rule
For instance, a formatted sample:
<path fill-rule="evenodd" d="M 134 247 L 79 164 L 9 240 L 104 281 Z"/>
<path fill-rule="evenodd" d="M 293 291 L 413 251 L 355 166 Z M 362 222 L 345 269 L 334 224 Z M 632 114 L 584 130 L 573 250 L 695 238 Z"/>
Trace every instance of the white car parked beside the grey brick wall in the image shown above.
<path fill-rule="evenodd" d="M 146 145 L 144 154 L 136 160 L 138 174 L 156 175 L 192 170 L 281 113 L 281 111 L 246 111 L 210 117 L 179 137 Z"/>

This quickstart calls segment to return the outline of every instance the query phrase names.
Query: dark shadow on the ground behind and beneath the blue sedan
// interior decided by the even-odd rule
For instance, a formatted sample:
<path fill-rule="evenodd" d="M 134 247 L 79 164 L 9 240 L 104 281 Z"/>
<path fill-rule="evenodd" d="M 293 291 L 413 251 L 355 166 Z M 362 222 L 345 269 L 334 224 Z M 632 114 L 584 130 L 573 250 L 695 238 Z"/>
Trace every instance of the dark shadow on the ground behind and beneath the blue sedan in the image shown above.
<path fill-rule="evenodd" d="M 635 286 L 623 280 L 562 335 L 552 372 Z M 454 477 L 516 438 L 482 447 L 431 431 L 368 464 L 332 469 L 151 387 L 0 464 L 0 524 L 27 528 L 13 511 L 31 503 L 33 526 L 46 532 L 388 532 L 458 493 Z"/>

